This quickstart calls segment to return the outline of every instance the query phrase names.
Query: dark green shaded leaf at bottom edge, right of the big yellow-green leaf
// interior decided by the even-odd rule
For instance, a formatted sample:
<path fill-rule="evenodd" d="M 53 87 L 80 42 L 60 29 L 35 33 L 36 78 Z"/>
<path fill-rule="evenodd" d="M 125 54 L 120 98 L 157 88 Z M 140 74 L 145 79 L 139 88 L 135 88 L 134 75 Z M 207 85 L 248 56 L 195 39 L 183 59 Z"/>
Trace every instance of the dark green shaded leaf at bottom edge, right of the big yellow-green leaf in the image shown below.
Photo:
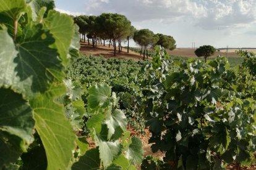
<path fill-rule="evenodd" d="M 90 169 L 97 170 L 100 169 L 100 153 L 98 148 L 93 148 L 88 150 L 85 155 L 81 156 L 79 161 L 74 163 L 72 170 L 80 169 Z"/>

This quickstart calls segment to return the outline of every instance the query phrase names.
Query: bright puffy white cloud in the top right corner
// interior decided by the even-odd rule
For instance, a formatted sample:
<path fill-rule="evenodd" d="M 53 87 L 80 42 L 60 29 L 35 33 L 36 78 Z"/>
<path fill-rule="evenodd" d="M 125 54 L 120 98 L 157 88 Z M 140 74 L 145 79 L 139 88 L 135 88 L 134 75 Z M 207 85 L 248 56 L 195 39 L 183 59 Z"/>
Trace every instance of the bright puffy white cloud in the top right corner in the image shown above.
<path fill-rule="evenodd" d="M 247 27 L 256 22 L 254 0 L 209 0 L 202 5 L 207 9 L 207 16 L 199 18 L 196 26 L 205 30 Z"/>

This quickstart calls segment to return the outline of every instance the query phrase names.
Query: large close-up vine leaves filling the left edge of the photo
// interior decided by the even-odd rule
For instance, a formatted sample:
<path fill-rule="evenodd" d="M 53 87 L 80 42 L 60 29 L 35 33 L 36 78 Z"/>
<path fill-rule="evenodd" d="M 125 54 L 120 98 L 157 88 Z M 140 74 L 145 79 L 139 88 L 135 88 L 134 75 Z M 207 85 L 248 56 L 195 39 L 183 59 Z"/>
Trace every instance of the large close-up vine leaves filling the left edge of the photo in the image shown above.
<path fill-rule="evenodd" d="M 0 3 L 0 169 L 67 169 L 75 134 L 58 99 L 70 56 L 78 57 L 73 20 L 51 0 Z"/>

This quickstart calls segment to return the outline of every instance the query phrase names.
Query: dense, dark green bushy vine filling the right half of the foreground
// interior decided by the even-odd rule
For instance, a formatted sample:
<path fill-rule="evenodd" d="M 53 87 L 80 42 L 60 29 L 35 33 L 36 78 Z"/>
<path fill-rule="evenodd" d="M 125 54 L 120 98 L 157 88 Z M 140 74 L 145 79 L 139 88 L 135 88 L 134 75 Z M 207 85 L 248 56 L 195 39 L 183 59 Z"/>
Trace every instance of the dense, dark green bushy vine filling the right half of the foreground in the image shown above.
<path fill-rule="evenodd" d="M 158 49 L 144 73 L 148 75 L 145 83 L 151 86 L 145 98 L 147 107 L 143 105 L 152 132 L 149 142 L 153 152 L 166 153 L 163 166 L 221 169 L 232 162 L 251 164 L 255 152 L 254 77 L 243 67 L 230 69 L 224 57 L 207 64 L 167 58 Z M 177 69 L 170 71 L 169 65 Z"/>

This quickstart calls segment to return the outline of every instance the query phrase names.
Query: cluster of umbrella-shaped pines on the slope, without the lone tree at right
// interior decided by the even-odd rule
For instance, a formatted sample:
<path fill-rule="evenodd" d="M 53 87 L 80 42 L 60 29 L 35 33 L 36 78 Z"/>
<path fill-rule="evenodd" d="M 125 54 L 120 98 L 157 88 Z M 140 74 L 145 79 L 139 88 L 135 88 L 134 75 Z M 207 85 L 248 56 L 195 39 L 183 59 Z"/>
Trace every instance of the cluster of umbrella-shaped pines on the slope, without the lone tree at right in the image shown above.
<path fill-rule="evenodd" d="M 153 31 L 148 29 L 136 30 L 124 15 L 103 13 L 99 16 L 80 15 L 73 18 L 74 22 L 79 26 L 81 41 L 85 42 L 86 36 L 88 44 L 90 45 L 90 39 L 92 39 L 92 46 L 96 47 L 97 43 L 100 42 L 102 44 L 102 41 L 105 46 L 105 42 L 108 40 L 108 46 L 112 45 L 114 47 L 114 56 L 116 56 L 117 52 L 116 43 L 118 43 L 118 51 L 122 51 L 122 41 L 128 42 L 127 52 L 129 53 L 130 39 L 134 39 L 142 47 L 142 51 L 144 51 L 143 60 L 145 60 L 148 47 L 160 45 L 165 49 L 176 49 L 176 41 L 172 36 L 154 34 Z M 142 52 L 140 55 L 142 55 Z"/>

